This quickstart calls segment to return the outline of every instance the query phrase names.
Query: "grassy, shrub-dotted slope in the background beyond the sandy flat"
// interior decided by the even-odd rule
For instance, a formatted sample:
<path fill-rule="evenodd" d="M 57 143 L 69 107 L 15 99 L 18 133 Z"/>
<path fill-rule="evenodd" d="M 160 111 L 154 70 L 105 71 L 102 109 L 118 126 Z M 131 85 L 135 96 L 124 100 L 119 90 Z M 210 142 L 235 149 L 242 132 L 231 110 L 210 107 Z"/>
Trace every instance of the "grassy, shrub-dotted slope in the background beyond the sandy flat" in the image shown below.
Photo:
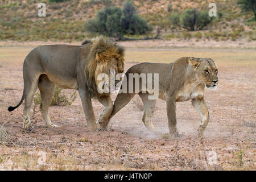
<path fill-rule="evenodd" d="M 159 39 L 181 41 L 184 39 L 256 40 L 255 15 L 252 10 L 245 11 L 248 9 L 245 8 L 246 4 L 241 4 L 243 1 L 255 3 L 255 0 L 132 1 L 136 23 L 131 24 L 144 26 L 135 27 L 137 28 L 135 31 L 134 27 L 117 31 L 121 27 L 113 28 L 113 22 L 104 20 L 105 24 L 110 23 L 109 27 L 112 27 L 112 32 L 108 33 L 105 30 L 92 31 L 92 28 L 96 27 L 95 22 L 94 27 L 88 28 L 88 24 L 97 20 L 97 14 L 100 12 L 114 9 L 115 12 L 109 19 L 117 18 L 123 26 L 123 20 L 130 18 L 121 18 L 125 16 L 123 10 L 125 0 L 45 0 L 42 2 L 46 3 L 46 17 L 38 16 L 38 1 L 2 0 L 0 1 L 0 40 L 72 42 L 98 34 L 114 36 L 116 39 L 147 39 L 158 35 Z M 210 9 L 208 5 L 213 2 L 217 5 L 217 17 L 210 18 L 207 16 Z M 254 9 L 256 9 L 255 5 Z M 185 19 L 183 19 L 186 13 L 191 15 L 192 10 L 208 17 L 204 19 L 205 26 L 192 28 L 193 31 L 191 28 L 184 27 Z M 119 15 L 116 15 L 116 12 Z M 100 19 L 102 21 L 102 18 Z M 131 31 L 132 28 L 133 31 Z M 119 32 L 121 36 L 117 35 Z"/>

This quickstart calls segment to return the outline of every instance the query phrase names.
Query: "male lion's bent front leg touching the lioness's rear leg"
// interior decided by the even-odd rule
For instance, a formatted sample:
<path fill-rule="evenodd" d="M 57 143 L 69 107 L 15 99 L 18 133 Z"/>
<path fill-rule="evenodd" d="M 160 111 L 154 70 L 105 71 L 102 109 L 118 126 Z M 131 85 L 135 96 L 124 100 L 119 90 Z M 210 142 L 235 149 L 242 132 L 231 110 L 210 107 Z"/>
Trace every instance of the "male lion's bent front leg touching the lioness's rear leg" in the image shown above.
<path fill-rule="evenodd" d="M 98 98 L 98 101 L 101 102 L 102 105 L 105 106 L 105 109 L 102 110 L 100 117 L 98 118 L 98 123 L 101 126 L 101 130 L 107 130 L 107 126 L 109 123 L 109 117 L 113 111 L 113 102 L 110 96 L 102 96 Z"/>

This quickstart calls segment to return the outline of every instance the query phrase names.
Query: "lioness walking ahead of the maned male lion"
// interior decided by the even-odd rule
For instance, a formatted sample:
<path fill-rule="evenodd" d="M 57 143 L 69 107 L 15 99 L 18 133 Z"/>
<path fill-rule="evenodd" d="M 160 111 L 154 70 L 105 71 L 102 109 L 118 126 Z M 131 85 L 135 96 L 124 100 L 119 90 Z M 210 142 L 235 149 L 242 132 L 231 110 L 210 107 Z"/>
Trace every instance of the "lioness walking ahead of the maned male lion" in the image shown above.
<path fill-rule="evenodd" d="M 181 57 L 170 64 L 141 63 L 134 65 L 125 73 L 127 77 L 127 88 L 129 87 L 129 73 L 138 73 L 139 75 L 141 73 L 159 73 L 158 97 L 165 100 L 167 104 L 170 135 L 173 137 L 180 136 L 176 127 L 175 102 L 188 100 L 192 100 L 193 107 L 195 107 L 197 112 L 201 114 L 202 121 L 197 131 L 199 135 L 203 134 L 205 127 L 207 127 L 209 122 L 208 107 L 204 101 L 204 88 L 206 85 L 209 89 L 216 89 L 218 85 L 218 68 L 217 64 L 212 59 Z M 154 80 L 152 80 L 152 82 L 154 82 Z M 141 89 L 141 80 L 139 84 L 139 89 Z M 133 88 L 135 88 L 134 82 Z M 150 90 L 148 90 L 148 92 L 149 91 Z M 151 117 L 155 110 L 156 99 L 149 100 L 148 96 L 150 95 L 150 92 L 148 92 L 142 93 L 141 90 L 139 90 L 139 96 L 144 104 L 142 121 L 147 129 L 155 131 L 154 126 L 151 123 Z M 126 106 L 134 95 L 135 93 L 118 93 L 110 118 Z"/>

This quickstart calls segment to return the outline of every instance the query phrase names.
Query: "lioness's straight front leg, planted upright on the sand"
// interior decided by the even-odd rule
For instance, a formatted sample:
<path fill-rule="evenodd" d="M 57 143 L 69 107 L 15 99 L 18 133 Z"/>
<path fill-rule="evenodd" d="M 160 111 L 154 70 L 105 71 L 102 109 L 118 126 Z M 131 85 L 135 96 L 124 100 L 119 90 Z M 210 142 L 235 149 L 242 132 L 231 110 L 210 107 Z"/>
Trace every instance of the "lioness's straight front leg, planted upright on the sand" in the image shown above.
<path fill-rule="evenodd" d="M 174 97 L 166 98 L 166 109 L 169 125 L 169 134 L 172 137 L 180 137 L 179 131 L 177 130 L 177 121 L 176 121 L 176 104 Z"/>

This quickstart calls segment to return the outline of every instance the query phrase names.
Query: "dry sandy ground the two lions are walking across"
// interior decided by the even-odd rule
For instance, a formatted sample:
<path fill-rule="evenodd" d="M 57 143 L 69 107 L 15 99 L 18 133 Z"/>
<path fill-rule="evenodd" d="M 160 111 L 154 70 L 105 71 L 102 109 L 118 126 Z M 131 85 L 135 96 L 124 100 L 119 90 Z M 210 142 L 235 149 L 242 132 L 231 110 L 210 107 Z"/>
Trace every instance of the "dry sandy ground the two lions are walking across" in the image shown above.
<path fill-rule="evenodd" d="M 137 96 L 113 117 L 110 131 L 88 130 L 78 96 L 71 106 L 50 107 L 52 122 L 59 128 L 48 129 L 35 113 L 35 128 L 26 133 L 24 104 L 11 113 L 7 107 L 22 96 L 22 64 L 31 49 L 0 48 L 0 125 L 5 123 L 10 135 L 0 144 L 0 169 L 255 170 L 254 49 L 127 49 L 126 69 L 140 61 L 168 63 L 181 56 L 217 61 L 220 84 L 216 91 L 205 92 L 210 122 L 201 142 L 196 131 L 200 115 L 190 101 L 176 104 L 181 137 L 169 138 L 166 103 L 156 104 L 152 123 L 158 133 L 152 134 L 141 121 L 142 102 Z M 93 107 L 98 118 L 104 107 L 98 101 Z"/>

